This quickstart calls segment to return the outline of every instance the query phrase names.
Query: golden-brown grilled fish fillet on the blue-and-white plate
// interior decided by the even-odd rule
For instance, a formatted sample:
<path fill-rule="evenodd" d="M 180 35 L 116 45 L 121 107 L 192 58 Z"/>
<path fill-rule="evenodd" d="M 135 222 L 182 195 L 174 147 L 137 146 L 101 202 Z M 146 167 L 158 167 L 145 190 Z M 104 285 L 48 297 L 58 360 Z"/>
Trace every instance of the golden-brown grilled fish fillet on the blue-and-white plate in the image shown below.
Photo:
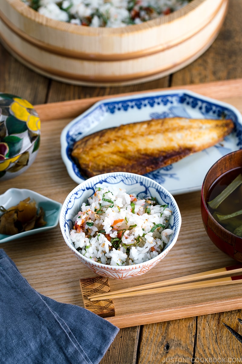
<path fill-rule="evenodd" d="M 145 174 L 221 142 L 233 128 L 230 119 L 152 119 L 87 135 L 71 155 L 87 177 L 115 171 Z"/>

